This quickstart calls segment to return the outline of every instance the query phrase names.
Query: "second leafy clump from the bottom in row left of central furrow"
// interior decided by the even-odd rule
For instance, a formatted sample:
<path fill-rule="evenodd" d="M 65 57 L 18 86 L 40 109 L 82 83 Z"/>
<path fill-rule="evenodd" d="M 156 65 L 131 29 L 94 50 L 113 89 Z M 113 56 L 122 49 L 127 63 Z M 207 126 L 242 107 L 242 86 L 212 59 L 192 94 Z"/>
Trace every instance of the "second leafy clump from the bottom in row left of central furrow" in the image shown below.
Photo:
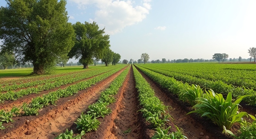
<path fill-rule="evenodd" d="M 97 120 L 93 114 L 81 114 L 77 119 L 76 129 L 84 130 L 85 132 L 97 130 L 100 125 L 100 121 Z"/>

